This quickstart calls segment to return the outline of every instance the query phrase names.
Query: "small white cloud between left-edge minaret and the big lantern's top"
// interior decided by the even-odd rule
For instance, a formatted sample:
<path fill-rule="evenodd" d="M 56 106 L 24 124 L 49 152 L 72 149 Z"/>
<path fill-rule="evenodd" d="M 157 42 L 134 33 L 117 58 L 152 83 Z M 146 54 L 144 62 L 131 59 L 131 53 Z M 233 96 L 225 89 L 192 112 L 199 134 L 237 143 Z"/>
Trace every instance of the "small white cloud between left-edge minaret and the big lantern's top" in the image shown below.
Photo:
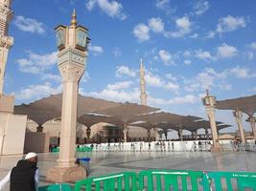
<path fill-rule="evenodd" d="M 35 32 L 39 34 L 45 33 L 44 24 L 34 18 L 25 18 L 24 16 L 16 16 L 14 25 L 23 32 Z"/>

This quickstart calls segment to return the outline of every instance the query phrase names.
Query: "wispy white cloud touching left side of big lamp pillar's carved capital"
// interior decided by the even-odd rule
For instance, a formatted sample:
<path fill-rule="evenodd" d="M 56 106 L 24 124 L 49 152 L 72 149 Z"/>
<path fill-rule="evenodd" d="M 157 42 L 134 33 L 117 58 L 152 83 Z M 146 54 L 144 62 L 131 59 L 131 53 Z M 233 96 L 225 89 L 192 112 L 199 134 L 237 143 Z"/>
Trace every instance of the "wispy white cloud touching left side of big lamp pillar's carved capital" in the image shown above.
<path fill-rule="evenodd" d="M 37 54 L 27 52 L 28 58 L 17 59 L 19 71 L 22 73 L 39 74 L 57 64 L 57 52 Z"/>

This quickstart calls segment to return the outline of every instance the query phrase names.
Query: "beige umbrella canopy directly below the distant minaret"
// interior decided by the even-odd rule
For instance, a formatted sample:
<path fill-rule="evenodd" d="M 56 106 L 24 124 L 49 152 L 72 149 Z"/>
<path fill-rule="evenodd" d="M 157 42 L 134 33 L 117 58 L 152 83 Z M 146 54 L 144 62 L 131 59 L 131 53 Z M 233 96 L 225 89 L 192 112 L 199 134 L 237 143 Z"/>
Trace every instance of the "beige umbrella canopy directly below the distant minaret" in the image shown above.
<path fill-rule="evenodd" d="M 155 112 L 157 110 L 159 109 L 152 108 L 145 105 L 139 105 L 136 103 L 126 102 L 126 103 L 120 103 L 118 106 L 114 106 L 111 108 L 107 108 L 105 110 L 98 111 L 96 113 L 111 116 L 111 117 L 116 117 L 122 120 L 124 123 L 128 123 L 128 120 L 130 120 L 133 117 Z"/>

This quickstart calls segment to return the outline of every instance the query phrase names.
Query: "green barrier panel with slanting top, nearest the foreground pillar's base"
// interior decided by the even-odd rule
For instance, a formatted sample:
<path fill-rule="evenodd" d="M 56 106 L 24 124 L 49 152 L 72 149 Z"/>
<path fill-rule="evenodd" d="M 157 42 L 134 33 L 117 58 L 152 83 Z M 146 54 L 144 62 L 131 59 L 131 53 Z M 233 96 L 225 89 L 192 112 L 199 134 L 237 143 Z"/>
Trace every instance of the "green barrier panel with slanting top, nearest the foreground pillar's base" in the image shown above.
<path fill-rule="evenodd" d="M 137 191 L 137 176 L 134 172 L 124 172 L 77 181 L 75 191 Z"/>

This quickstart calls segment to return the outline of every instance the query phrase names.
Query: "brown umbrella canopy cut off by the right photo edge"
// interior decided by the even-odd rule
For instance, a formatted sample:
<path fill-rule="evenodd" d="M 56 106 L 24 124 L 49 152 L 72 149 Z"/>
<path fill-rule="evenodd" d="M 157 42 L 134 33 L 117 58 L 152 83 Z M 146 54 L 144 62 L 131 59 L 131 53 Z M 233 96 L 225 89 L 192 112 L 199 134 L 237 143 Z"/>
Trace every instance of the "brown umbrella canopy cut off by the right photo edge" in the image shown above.
<path fill-rule="evenodd" d="M 219 110 L 236 110 L 239 109 L 248 116 L 253 116 L 256 112 L 256 95 L 244 96 L 233 99 L 216 101 L 216 109 Z"/>

